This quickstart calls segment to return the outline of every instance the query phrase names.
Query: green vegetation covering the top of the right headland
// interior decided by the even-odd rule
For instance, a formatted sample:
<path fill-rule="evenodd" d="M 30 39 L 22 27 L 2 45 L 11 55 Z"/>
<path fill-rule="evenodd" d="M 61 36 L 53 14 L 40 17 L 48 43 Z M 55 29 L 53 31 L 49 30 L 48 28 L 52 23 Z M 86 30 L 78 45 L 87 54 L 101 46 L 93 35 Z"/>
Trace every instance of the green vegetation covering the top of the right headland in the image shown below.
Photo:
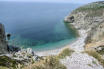
<path fill-rule="evenodd" d="M 74 10 L 73 13 L 77 12 L 87 12 L 86 17 L 95 17 L 95 16 L 102 16 L 104 10 L 104 3 L 97 2 L 97 3 L 90 3 L 85 6 L 81 6 L 80 8 L 77 8 Z"/>

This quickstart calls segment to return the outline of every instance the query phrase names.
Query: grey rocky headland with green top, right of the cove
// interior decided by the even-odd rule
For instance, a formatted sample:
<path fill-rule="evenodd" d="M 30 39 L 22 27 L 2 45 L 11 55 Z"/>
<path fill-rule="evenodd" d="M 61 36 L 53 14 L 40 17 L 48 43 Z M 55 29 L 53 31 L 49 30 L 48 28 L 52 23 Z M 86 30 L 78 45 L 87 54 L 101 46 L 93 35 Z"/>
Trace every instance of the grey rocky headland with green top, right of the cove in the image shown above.
<path fill-rule="evenodd" d="M 77 29 L 89 30 L 86 44 L 104 40 L 104 1 L 74 10 L 65 18 L 65 22 L 74 24 Z"/>

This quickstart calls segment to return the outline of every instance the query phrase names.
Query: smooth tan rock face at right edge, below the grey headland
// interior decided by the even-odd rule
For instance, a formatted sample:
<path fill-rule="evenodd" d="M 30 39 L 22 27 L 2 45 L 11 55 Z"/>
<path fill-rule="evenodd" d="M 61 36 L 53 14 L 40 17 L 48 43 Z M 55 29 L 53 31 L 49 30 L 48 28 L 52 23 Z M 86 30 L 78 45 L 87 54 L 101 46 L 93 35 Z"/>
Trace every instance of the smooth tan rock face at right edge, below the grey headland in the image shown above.
<path fill-rule="evenodd" d="M 94 43 L 98 41 L 104 40 L 104 21 L 100 22 L 97 26 L 89 31 L 88 36 L 86 38 L 86 44 Z"/>

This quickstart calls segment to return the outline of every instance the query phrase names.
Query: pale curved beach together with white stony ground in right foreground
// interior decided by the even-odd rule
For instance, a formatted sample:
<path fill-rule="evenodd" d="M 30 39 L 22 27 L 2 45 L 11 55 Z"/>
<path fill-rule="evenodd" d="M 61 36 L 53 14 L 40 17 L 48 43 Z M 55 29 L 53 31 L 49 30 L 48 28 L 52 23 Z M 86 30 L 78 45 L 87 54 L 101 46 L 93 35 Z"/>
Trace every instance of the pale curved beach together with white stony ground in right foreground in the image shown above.
<path fill-rule="evenodd" d="M 78 37 L 75 42 L 60 49 L 37 52 L 36 54 L 39 56 L 57 55 L 63 49 L 69 48 L 73 49 L 75 52 L 71 56 L 67 56 L 66 58 L 60 60 L 60 62 L 65 65 L 67 69 L 103 69 L 103 66 L 99 64 L 98 60 L 89 56 L 87 53 L 83 53 L 85 51 L 84 46 L 88 30 L 78 30 L 78 32 L 80 37 Z M 94 61 L 96 64 L 93 63 Z M 89 66 L 89 64 L 92 67 Z"/>

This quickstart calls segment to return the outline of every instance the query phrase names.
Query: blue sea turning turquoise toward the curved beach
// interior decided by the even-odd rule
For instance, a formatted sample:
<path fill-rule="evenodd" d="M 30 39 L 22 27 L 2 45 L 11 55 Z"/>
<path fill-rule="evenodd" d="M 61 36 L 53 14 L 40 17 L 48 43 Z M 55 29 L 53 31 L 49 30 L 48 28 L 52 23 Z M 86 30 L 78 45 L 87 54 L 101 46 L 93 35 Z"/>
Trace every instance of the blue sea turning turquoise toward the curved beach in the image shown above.
<path fill-rule="evenodd" d="M 63 22 L 77 4 L 0 2 L 0 22 L 11 33 L 10 45 L 43 51 L 63 47 L 76 39 Z"/>

